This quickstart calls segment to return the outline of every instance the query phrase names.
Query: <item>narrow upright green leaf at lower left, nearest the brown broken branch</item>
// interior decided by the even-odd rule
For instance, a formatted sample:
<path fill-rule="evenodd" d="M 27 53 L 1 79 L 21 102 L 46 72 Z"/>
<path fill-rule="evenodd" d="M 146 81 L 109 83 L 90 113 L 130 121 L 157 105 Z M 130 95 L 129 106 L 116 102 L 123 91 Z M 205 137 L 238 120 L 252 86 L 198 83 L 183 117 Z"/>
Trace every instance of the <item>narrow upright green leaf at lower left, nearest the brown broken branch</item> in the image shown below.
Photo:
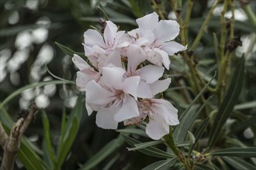
<path fill-rule="evenodd" d="M 50 168 L 54 168 L 55 164 L 55 153 L 53 145 L 50 141 L 50 123 L 45 110 L 42 110 L 42 121 L 43 121 L 43 148 L 44 154 Z"/>

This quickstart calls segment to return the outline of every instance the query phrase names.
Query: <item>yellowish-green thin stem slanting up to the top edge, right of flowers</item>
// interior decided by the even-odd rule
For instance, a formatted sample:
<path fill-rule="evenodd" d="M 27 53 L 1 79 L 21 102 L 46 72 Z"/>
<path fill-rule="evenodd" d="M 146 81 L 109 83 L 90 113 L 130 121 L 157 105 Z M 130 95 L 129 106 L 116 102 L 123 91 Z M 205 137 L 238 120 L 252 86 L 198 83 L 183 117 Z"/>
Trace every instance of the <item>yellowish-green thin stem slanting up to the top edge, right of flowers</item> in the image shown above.
<path fill-rule="evenodd" d="M 199 33 L 197 34 L 197 36 L 195 37 L 194 42 L 192 43 L 192 46 L 191 46 L 192 50 L 195 50 L 195 47 L 199 44 L 199 41 L 202 38 L 202 35 L 203 35 L 203 33 L 205 31 L 205 28 L 206 28 L 206 26 L 209 22 L 209 19 L 211 19 L 212 15 L 213 15 L 213 10 L 214 10 L 214 8 L 216 8 L 216 6 L 218 5 L 219 2 L 220 2 L 220 0 L 216 1 L 213 4 L 212 8 L 209 10 L 208 15 L 206 16 L 205 22 L 202 23 L 202 26 L 199 30 Z"/>

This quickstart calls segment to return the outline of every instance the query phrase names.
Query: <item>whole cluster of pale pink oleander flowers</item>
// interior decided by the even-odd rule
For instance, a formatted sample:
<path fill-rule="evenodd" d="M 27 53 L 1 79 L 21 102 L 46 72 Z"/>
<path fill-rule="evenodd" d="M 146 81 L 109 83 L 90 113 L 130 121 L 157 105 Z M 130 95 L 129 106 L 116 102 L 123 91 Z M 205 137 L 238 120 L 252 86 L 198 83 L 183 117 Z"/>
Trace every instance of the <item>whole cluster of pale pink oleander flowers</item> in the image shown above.
<path fill-rule="evenodd" d="M 130 32 L 106 21 L 102 34 L 94 29 L 84 33 L 88 61 L 74 54 L 79 69 L 76 84 L 85 91 L 88 115 L 97 111 L 100 128 L 116 129 L 119 122 L 140 124 L 147 119 L 146 133 L 157 140 L 169 133 L 169 125 L 179 123 L 178 110 L 157 94 L 171 83 L 171 78 L 163 78 L 169 56 L 186 46 L 174 41 L 179 33 L 176 21 L 159 21 L 153 12 L 136 22 L 138 28 Z"/>

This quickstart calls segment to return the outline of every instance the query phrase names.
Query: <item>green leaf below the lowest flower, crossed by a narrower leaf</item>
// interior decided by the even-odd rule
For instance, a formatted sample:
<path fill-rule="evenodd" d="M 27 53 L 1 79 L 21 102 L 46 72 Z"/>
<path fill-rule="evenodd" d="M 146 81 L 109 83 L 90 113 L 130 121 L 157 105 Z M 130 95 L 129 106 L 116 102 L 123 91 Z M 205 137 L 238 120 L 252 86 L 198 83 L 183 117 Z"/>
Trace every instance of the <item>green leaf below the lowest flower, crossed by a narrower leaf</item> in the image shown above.
<path fill-rule="evenodd" d="M 141 143 L 140 141 L 137 141 L 133 138 L 130 138 L 126 134 L 122 134 L 122 136 L 130 146 L 134 147 L 135 144 L 140 144 Z M 154 147 L 143 148 L 143 149 L 140 149 L 138 151 L 140 151 L 140 152 L 142 152 L 146 155 L 156 157 L 156 158 L 175 158 L 174 155 L 170 155 L 169 153 L 167 153 L 165 151 L 162 151 L 158 148 L 154 148 Z"/>

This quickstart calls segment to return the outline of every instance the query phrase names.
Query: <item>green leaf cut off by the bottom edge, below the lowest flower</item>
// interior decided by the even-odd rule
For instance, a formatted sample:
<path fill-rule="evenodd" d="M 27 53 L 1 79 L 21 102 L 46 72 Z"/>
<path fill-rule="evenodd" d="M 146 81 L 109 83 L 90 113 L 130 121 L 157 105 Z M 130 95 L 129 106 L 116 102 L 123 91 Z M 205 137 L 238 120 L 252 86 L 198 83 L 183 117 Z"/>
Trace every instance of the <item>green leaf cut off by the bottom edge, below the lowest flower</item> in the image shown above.
<path fill-rule="evenodd" d="M 170 169 L 171 165 L 177 161 L 176 158 L 161 160 L 158 162 L 154 162 L 151 165 L 143 168 L 142 170 L 168 170 Z"/>

